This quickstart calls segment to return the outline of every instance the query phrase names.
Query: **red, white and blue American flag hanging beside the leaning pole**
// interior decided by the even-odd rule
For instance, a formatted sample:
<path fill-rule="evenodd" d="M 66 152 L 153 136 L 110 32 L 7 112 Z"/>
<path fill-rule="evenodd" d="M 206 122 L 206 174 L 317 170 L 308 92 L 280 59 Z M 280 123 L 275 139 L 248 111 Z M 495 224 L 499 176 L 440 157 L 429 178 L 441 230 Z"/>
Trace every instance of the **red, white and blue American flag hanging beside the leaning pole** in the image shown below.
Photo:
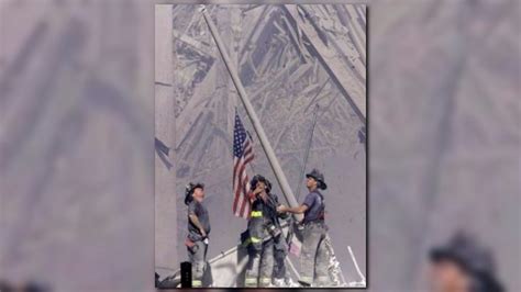
<path fill-rule="evenodd" d="M 235 112 L 233 131 L 233 214 L 237 217 L 250 216 L 250 179 L 246 175 L 246 165 L 254 158 L 252 142 L 243 123 Z"/>

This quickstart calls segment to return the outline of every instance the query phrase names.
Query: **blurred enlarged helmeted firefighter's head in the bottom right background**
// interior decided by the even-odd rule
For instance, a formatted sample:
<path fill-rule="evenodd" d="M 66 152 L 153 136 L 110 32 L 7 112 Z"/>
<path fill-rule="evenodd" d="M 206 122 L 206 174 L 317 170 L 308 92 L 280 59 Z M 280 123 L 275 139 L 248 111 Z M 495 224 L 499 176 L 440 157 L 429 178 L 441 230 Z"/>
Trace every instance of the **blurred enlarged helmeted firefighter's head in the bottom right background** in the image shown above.
<path fill-rule="evenodd" d="M 490 251 L 468 234 L 456 233 L 445 246 L 431 249 L 433 292 L 502 292 Z"/>

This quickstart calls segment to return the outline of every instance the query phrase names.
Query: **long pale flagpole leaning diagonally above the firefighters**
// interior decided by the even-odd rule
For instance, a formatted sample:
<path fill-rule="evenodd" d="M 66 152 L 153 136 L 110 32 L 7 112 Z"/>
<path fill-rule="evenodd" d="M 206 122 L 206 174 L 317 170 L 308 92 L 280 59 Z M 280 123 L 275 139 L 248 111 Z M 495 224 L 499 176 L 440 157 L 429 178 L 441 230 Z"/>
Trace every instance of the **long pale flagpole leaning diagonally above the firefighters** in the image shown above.
<path fill-rule="evenodd" d="M 288 205 L 291 207 L 298 206 L 297 200 L 295 199 L 293 192 L 291 191 L 291 188 L 289 187 L 288 180 L 286 179 L 286 176 L 284 175 L 282 168 L 280 167 L 277 157 L 275 156 L 275 151 L 271 148 L 271 145 L 269 144 L 269 141 L 266 136 L 266 133 L 264 132 L 263 126 L 260 125 L 260 122 L 257 117 L 257 114 L 255 113 L 252 103 L 247 99 L 246 96 L 246 90 L 244 90 L 244 87 L 241 82 L 241 79 L 239 78 L 237 72 L 235 71 L 234 67 L 231 66 L 231 60 L 230 57 L 228 56 L 226 49 L 224 47 L 224 44 L 221 41 L 221 37 L 219 35 L 218 29 L 215 27 L 215 24 L 213 23 L 212 19 L 207 12 L 207 9 L 204 5 L 201 5 L 200 11 L 202 15 L 204 16 L 204 21 L 208 24 L 208 27 L 210 29 L 210 32 L 213 36 L 213 40 L 215 41 L 215 44 L 218 46 L 219 52 L 221 53 L 222 59 L 224 61 L 224 65 L 226 66 L 228 71 L 230 72 L 230 76 L 232 77 L 233 85 L 237 89 L 239 97 L 241 98 L 241 101 L 244 104 L 244 108 L 246 110 L 246 113 L 250 117 L 250 121 L 253 124 L 253 127 L 255 130 L 255 133 L 257 133 L 258 139 L 260 141 L 260 145 L 263 146 L 263 149 L 268 158 L 269 165 L 271 166 L 273 171 L 275 172 L 275 177 L 277 178 L 277 181 L 280 186 L 280 189 L 282 190 L 282 194 L 286 198 L 286 201 L 288 202 Z M 293 214 L 293 216 L 300 221 L 302 215 L 301 214 Z"/>

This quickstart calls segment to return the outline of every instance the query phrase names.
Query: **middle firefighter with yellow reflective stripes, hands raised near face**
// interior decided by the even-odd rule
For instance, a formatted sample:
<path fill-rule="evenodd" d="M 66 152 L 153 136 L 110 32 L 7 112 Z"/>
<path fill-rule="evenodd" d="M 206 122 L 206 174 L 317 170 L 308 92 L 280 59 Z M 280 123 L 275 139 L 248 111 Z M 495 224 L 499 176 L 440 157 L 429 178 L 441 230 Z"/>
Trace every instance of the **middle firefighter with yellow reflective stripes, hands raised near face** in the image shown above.
<path fill-rule="evenodd" d="M 256 175 L 250 186 L 253 192 L 247 235 L 243 240 L 248 250 L 244 285 L 270 287 L 274 271 L 274 238 L 281 234 L 278 222 L 274 220 L 277 216 L 277 205 L 269 194 L 270 183 L 266 178 Z"/>

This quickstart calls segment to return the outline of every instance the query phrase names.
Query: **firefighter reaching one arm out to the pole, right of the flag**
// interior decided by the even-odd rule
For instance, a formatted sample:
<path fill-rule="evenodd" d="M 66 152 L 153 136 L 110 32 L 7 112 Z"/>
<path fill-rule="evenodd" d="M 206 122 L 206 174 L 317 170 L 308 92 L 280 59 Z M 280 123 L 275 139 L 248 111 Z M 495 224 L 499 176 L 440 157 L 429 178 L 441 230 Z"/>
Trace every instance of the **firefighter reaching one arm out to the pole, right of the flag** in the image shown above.
<path fill-rule="evenodd" d="M 296 207 L 280 205 L 277 211 L 303 214 L 299 283 L 302 287 L 310 287 L 311 284 L 324 287 L 330 282 L 328 252 L 324 245 L 328 226 L 324 222 L 324 196 L 320 190 L 328 189 L 328 184 L 324 181 L 324 176 L 318 169 L 313 169 L 306 177 L 308 178 L 306 186 L 309 193 L 303 203 Z"/>

